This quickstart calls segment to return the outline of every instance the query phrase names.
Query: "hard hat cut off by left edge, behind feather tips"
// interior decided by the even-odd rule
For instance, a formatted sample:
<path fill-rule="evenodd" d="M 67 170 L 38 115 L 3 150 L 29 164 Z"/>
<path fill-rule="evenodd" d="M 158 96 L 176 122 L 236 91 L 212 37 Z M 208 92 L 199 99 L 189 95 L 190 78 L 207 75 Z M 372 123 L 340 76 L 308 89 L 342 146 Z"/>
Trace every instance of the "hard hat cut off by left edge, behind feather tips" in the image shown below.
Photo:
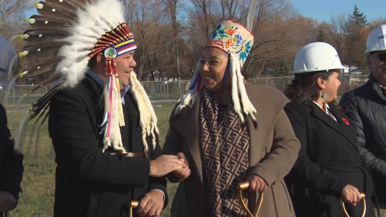
<path fill-rule="evenodd" d="M 8 73 L 13 73 L 12 69 L 14 69 L 16 65 L 17 56 L 15 49 L 7 40 L 0 36 L 0 89 L 7 90 L 14 88 L 14 84 L 8 87 Z"/>

